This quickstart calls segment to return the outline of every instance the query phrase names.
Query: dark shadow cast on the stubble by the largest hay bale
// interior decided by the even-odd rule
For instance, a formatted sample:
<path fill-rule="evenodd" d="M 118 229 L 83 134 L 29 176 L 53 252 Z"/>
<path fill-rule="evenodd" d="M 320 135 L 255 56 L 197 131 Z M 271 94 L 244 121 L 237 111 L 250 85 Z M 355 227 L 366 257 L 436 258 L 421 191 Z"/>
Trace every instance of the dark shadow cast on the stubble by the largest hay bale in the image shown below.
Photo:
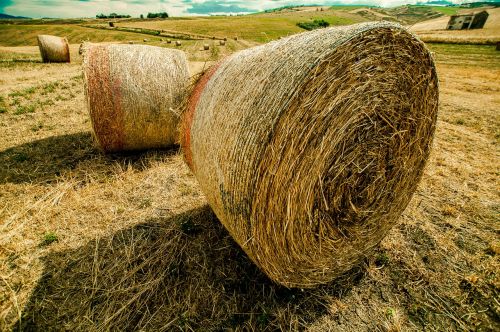
<path fill-rule="evenodd" d="M 49 254 L 14 330 L 299 330 L 362 280 L 278 286 L 215 218 L 204 206 Z"/>

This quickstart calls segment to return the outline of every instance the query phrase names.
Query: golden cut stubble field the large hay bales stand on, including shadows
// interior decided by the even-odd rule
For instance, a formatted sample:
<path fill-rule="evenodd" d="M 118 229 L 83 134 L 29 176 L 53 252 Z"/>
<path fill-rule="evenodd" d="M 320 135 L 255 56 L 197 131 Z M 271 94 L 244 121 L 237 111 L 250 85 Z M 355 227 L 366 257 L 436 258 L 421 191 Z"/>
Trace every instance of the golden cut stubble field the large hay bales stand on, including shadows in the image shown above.
<path fill-rule="evenodd" d="M 182 49 L 200 71 L 254 44 L 229 42 Z M 177 148 L 97 150 L 78 45 L 71 64 L 0 48 L 0 329 L 498 330 L 500 52 L 459 47 L 430 45 L 436 137 L 399 224 L 312 290 L 277 286 L 251 263 Z"/>

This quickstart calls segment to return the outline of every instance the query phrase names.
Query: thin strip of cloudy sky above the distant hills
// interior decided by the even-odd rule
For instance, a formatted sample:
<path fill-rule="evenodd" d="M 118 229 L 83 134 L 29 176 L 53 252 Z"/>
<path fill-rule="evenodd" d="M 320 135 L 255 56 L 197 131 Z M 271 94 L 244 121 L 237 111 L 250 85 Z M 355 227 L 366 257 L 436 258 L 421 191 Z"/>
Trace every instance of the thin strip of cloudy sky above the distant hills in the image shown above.
<path fill-rule="evenodd" d="M 455 3 L 466 0 L 451 0 Z M 474 0 L 472 0 L 474 1 Z M 0 0 L 0 13 L 28 17 L 95 17 L 118 13 L 131 16 L 166 11 L 171 16 L 250 13 L 295 4 L 369 4 L 382 7 L 417 0 Z"/>

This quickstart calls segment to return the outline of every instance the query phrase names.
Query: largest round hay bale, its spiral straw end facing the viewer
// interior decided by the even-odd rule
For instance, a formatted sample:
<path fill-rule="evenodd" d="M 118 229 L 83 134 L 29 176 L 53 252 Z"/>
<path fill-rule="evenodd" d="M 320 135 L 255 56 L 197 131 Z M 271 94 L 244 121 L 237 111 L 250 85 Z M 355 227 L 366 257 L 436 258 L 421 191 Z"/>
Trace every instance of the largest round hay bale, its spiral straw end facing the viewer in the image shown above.
<path fill-rule="evenodd" d="M 313 287 L 396 223 L 428 159 L 433 59 L 393 23 L 320 29 L 235 53 L 197 83 L 184 157 L 220 221 L 274 281 Z"/>

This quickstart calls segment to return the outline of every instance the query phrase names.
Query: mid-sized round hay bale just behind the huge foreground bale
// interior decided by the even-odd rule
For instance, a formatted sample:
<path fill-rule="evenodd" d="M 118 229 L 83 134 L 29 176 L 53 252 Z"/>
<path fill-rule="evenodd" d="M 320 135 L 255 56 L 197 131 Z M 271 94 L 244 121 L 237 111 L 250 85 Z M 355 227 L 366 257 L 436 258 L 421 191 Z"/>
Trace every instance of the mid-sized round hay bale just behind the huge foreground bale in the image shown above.
<path fill-rule="evenodd" d="M 178 143 L 189 81 L 184 52 L 146 45 L 89 45 L 83 72 L 97 142 L 106 152 Z"/>

